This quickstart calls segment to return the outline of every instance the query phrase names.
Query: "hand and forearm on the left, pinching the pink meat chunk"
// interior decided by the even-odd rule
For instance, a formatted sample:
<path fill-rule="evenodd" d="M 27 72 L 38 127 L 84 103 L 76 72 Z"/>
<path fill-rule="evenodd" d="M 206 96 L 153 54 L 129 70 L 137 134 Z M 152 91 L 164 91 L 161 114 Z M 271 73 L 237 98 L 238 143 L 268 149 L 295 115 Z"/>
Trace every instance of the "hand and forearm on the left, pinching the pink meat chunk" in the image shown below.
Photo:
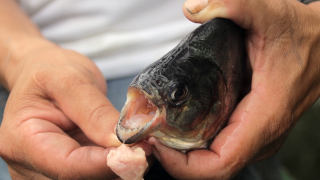
<path fill-rule="evenodd" d="M 0 0 L 0 26 L 0 155 L 12 179 L 116 178 L 106 157 L 121 145 L 119 112 L 95 64 L 42 37 L 14 0 Z"/>

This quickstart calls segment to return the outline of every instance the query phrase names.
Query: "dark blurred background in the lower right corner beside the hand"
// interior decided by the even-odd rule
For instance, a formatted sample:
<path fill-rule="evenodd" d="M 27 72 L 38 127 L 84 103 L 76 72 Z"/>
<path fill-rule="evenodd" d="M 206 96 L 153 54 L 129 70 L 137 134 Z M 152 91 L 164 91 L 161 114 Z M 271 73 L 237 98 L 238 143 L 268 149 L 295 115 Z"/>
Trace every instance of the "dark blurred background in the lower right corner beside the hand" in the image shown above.
<path fill-rule="evenodd" d="M 297 122 L 279 155 L 288 179 L 320 179 L 320 99 Z"/>

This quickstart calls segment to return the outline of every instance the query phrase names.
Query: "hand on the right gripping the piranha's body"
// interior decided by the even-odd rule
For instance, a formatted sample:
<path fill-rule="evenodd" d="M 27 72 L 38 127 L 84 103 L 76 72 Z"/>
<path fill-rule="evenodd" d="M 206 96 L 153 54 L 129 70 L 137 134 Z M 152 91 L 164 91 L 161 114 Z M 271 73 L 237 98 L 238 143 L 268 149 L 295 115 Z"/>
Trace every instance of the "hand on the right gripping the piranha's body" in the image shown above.
<path fill-rule="evenodd" d="M 223 17 L 246 29 L 251 89 L 209 150 L 181 153 L 154 138 L 149 143 L 177 179 L 230 179 L 274 155 L 320 96 L 320 2 L 188 0 L 183 11 L 193 22 Z"/>

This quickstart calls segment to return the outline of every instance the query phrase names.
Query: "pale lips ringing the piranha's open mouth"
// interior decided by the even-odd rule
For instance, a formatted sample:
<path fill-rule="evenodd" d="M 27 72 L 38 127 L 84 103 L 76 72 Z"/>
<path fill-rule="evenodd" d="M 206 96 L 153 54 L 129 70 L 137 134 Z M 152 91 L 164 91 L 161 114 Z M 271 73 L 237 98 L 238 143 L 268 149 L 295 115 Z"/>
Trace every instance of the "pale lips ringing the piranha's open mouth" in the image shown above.
<path fill-rule="evenodd" d="M 155 105 L 151 101 L 151 96 L 146 91 L 132 85 L 130 86 L 130 88 L 135 90 L 135 92 L 138 91 L 140 93 L 139 98 L 142 98 L 141 95 L 144 95 L 144 98 L 148 100 L 148 103 L 156 107 L 156 112 L 155 112 L 155 115 L 148 122 L 144 123 L 141 126 L 138 126 L 135 128 L 125 127 L 123 125 L 123 122 L 127 120 L 126 117 L 128 115 L 129 105 L 132 102 L 132 101 L 130 102 L 130 98 L 128 97 L 127 102 L 125 103 L 123 109 L 121 110 L 119 121 L 117 123 L 116 130 L 115 130 L 119 141 L 124 144 L 136 143 L 142 140 L 148 134 L 159 130 L 162 127 L 162 124 L 164 123 L 164 120 L 166 118 L 166 110 L 163 105 Z M 129 90 L 128 90 L 128 93 L 129 93 Z M 129 134 L 129 136 L 132 134 L 132 136 L 127 138 L 123 134 Z"/>

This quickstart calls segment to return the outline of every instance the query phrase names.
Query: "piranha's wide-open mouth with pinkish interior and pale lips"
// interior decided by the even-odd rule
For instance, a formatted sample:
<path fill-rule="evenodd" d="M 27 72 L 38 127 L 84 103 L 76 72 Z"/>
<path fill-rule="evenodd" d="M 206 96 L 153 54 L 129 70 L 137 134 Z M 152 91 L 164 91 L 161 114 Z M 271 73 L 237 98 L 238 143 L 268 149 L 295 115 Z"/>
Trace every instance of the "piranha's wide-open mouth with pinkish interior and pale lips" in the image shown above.
<path fill-rule="evenodd" d="M 136 143 L 158 131 L 165 119 L 163 105 L 156 106 L 148 93 L 130 86 L 116 126 L 116 135 L 124 144 Z"/>

